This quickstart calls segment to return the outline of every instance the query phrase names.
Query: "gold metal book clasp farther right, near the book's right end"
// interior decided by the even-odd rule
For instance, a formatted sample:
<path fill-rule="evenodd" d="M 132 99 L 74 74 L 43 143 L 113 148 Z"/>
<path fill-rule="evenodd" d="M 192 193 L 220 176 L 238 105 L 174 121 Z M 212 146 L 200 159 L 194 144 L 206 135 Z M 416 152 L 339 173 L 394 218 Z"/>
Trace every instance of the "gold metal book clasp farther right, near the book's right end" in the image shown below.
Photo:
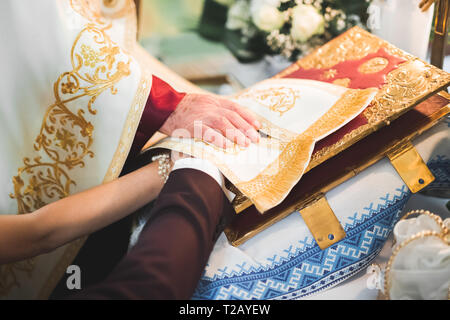
<path fill-rule="evenodd" d="M 412 193 L 434 181 L 433 174 L 410 141 L 398 145 L 386 155 Z"/>

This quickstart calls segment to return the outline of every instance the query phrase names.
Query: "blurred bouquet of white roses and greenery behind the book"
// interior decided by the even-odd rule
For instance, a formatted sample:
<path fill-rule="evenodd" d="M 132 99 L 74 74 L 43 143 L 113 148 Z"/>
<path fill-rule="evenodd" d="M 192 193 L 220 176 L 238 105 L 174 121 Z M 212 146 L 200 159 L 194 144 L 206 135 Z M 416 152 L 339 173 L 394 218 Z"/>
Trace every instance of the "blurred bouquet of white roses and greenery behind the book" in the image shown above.
<path fill-rule="evenodd" d="M 350 27 L 366 28 L 370 5 L 370 0 L 213 1 L 226 11 L 223 40 L 244 61 L 264 54 L 296 60 Z"/>

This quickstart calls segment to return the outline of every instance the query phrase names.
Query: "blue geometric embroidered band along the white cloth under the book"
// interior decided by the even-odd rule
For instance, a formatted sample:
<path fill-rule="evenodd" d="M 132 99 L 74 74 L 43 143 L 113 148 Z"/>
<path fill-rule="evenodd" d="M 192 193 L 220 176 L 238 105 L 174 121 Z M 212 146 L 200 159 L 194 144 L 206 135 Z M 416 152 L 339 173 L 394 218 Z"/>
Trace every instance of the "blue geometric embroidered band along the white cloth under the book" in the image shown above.
<path fill-rule="evenodd" d="M 437 156 L 429 162 L 436 182 L 450 181 L 449 159 Z M 411 193 L 404 185 L 386 194 L 381 203 L 370 203 L 354 213 L 344 229 L 345 239 L 320 250 L 311 238 L 289 246 L 287 256 L 269 259 L 271 265 L 203 275 L 193 299 L 298 299 L 335 286 L 366 268 L 383 248 Z M 236 268 L 234 268 L 236 269 Z"/>

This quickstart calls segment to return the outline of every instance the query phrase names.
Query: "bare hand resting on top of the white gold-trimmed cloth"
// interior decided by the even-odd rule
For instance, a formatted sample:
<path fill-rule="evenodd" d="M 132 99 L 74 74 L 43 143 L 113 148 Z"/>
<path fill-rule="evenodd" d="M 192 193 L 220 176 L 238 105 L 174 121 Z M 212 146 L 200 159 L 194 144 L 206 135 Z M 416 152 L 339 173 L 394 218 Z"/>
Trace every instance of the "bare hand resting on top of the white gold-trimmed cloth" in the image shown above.
<path fill-rule="evenodd" d="M 227 99 L 187 94 L 160 131 L 169 136 L 197 138 L 228 148 L 232 142 L 247 147 L 258 142 L 261 124 L 249 111 Z"/>

